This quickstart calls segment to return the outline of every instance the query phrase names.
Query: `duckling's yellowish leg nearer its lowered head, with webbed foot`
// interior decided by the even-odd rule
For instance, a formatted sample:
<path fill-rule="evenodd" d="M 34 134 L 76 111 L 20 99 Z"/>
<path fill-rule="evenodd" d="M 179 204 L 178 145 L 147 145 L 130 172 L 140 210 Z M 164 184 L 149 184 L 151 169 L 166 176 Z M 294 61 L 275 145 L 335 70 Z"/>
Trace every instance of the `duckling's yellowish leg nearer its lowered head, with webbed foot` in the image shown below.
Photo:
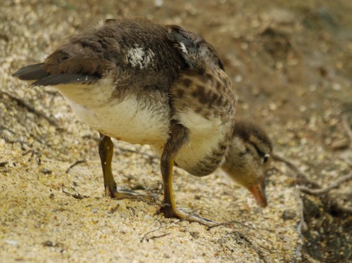
<path fill-rule="evenodd" d="M 218 223 L 208 219 L 199 217 L 198 214 L 187 214 L 186 212 L 177 209 L 175 195 L 172 187 L 172 168 L 174 158 L 181 146 L 188 141 L 188 129 L 177 124 L 171 123 L 170 139 L 165 143 L 163 154 L 161 155 L 161 174 L 163 176 L 164 199 L 161 212 L 165 217 L 176 217 L 179 219 L 188 220 L 189 222 L 199 222 L 206 226 L 213 226 Z"/>

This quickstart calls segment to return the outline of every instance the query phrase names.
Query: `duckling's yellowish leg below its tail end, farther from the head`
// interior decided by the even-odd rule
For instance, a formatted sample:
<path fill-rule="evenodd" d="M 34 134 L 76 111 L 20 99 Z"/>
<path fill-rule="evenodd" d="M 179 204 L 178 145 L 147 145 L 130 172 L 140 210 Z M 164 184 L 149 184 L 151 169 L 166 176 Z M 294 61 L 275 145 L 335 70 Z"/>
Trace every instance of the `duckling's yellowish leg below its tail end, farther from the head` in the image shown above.
<path fill-rule="evenodd" d="M 113 142 L 109 136 L 100 134 L 99 141 L 99 155 L 101 160 L 101 167 L 103 168 L 104 188 L 106 196 L 115 199 L 142 199 L 153 201 L 151 195 L 142 195 L 133 191 L 118 191 L 116 182 L 113 179 L 113 172 L 111 169 L 111 161 L 113 160 Z"/>

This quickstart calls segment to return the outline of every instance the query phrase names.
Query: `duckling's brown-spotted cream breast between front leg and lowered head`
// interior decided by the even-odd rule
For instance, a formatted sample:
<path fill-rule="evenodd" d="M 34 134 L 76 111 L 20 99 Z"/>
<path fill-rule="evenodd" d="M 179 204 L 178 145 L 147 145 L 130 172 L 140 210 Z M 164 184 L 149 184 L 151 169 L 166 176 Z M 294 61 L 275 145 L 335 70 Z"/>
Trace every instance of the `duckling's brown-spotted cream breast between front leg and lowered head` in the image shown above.
<path fill-rule="evenodd" d="M 182 155 L 190 157 L 178 155 L 175 162 L 190 174 L 210 174 L 224 160 L 234 129 L 236 99 L 229 77 L 220 68 L 185 70 L 170 95 L 172 120 L 189 134 Z"/>

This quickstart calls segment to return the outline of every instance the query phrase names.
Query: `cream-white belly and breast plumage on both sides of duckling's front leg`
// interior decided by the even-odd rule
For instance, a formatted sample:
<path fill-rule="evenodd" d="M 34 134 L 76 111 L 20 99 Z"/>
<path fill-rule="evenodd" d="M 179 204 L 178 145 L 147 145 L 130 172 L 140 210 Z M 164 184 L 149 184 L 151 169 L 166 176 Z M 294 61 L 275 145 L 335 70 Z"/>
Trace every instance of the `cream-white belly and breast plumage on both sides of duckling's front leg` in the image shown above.
<path fill-rule="evenodd" d="M 134 144 L 149 144 L 161 155 L 169 138 L 170 106 L 168 96 L 149 91 L 145 96 L 128 94 L 114 98 L 115 86 L 109 79 L 97 84 L 56 86 L 75 114 L 89 127 L 111 138 Z M 188 109 L 175 118 L 190 131 L 189 142 L 177 153 L 175 161 L 191 172 L 203 158 L 218 148 L 225 127 L 217 117 L 206 120 Z"/>

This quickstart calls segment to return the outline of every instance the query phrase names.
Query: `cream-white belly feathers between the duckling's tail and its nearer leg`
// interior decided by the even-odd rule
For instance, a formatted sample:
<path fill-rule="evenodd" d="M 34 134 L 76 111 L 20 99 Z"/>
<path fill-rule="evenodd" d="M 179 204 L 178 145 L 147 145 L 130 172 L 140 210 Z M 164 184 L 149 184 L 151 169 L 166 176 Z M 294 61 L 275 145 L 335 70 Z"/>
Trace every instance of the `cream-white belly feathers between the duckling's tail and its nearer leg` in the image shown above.
<path fill-rule="evenodd" d="M 163 145 L 168 139 L 170 108 L 165 101 L 168 98 L 160 94 L 113 98 L 115 86 L 108 79 L 92 85 L 65 84 L 56 89 L 85 124 L 102 134 L 134 144 Z"/>

